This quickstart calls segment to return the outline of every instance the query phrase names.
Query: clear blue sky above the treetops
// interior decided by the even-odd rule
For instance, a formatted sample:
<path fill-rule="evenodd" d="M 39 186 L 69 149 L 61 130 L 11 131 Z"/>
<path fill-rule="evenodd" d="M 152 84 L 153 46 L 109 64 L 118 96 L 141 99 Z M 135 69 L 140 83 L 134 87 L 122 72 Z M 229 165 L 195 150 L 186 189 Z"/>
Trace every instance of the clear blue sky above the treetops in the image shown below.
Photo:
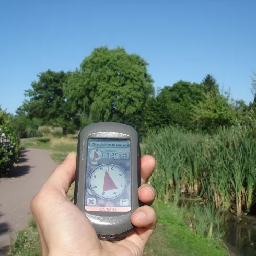
<path fill-rule="evenodd" d="M 0 105 L 15 113 L 39 72 L 74 70 L 98 46 L 144 57 L 156 88 L 210 73 L 249 103 L 255 9 L 255 0 L 1 1 Z"/>

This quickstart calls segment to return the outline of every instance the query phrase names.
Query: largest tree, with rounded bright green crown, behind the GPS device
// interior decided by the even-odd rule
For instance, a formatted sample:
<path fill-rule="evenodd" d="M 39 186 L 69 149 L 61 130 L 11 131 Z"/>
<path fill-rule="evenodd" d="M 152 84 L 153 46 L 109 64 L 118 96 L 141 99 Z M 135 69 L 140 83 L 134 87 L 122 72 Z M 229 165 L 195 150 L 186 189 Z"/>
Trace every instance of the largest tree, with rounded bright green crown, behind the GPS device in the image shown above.
<path fill-rule="evenodd" d="M 73 108 L 90 115 L 93 122 L 125 122 L 154 93 L 147 66 L 139 55 L 127 54 L 124 48 L 96 48 L 69 77 L 65 94 L 75 102 Z"/>

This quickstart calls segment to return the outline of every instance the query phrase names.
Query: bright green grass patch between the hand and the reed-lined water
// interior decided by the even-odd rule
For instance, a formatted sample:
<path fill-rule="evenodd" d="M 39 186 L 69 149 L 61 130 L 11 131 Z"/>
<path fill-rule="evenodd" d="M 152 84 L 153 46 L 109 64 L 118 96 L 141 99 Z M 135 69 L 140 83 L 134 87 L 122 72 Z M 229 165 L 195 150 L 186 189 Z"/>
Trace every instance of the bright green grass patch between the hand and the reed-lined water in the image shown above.
<path fill-rule="evenodd" d="M 197 235 L 184 223 L 182 208 L 158 201 L 153 208 L 157 213 L 158 225 L 146 246 L 145 255 L 227 255 L 222 247 Z"/>

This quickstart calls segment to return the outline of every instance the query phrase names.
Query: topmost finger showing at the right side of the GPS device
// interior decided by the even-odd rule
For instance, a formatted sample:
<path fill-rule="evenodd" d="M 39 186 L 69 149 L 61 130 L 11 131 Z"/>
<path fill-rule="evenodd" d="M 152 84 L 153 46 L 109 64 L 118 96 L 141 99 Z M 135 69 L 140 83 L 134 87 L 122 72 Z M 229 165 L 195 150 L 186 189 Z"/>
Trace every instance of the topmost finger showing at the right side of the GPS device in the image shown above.
<path fill-rule="evenodd" d="M 156 160 L 153 156 L 145 155 L 141 158 L 141 184 L 148 182 L 156 166 Z"/>

